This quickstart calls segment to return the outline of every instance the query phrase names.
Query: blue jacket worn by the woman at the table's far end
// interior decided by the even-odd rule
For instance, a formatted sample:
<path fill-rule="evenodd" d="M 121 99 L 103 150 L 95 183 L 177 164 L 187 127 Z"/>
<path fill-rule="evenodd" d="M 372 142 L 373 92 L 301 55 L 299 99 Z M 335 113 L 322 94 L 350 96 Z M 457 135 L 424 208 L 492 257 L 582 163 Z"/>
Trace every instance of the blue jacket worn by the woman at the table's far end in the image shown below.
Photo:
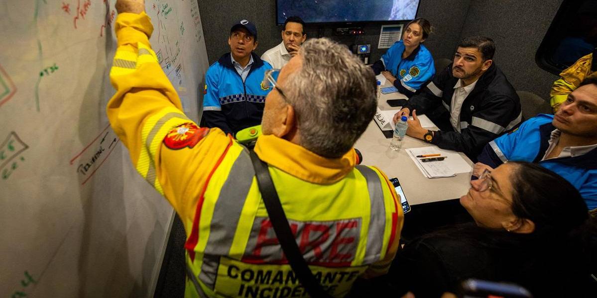
<path fill-rule="evenodd" d="M 404 59 L 402 52 L 404 43 L 398 41 L 373 64 L 373 71 L 379 75 L 383 70 L 389 70 L 396 77 L 394 86 L 402 94 L 410 97 L 432 79 L 435 75 L 435 64 L 431 53 L 424 45 L 419 45 Z"/>

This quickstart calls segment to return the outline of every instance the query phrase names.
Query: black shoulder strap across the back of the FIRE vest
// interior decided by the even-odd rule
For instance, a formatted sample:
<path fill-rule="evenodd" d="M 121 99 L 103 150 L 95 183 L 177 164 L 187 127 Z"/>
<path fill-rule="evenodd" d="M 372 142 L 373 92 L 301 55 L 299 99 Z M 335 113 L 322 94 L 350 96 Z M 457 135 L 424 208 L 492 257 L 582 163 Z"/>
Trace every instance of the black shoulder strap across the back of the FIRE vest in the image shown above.
<path fill-rule="evenodd" d="M 298 249 L 294 234 L 290 229 L 290 224 L 288 224 L 284 209 L 282 209 L 280 198 L 273 185 L 272 176 L 269 175 L 269 170 L 267 170 L 267 163 L 261 161 L 253 150 L 250 151 L 250 156 L 253 161 L 257 184 L 259 185 L 263 203 L 267 209 L 269 219 L 272 221 L 273 231 L 276 232 L 276 237 L 278 237 L 278 241 L 282 246 L 284 254 L 286 254 L 288 263 L 290 263 L 290 267 L 293 269 L 294 274 L 297 275 L 298 280 L 307 293 L 309 293 L 309 296 L 331 297 L 315 279 L 313 272 L 311 272 L 306 260 L 303 258 L 303 254 Z"/>

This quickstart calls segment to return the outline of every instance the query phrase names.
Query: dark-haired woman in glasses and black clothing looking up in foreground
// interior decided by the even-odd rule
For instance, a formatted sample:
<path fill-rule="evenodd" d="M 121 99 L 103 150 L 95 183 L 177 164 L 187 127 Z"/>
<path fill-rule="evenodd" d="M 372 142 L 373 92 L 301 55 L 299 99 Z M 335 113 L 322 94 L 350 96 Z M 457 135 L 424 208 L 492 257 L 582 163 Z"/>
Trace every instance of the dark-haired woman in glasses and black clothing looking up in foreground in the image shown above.
<path fill-rule="evenodd" d="M 573 185 L 522 162 L 486 170 L 470 185 L 460 204 L 474 223 L 399 250 L 389 273 L 398 297 L 455 293 L 467 278 L 519 284 L 534 297 L 595 297 L 595 221 Z"/>

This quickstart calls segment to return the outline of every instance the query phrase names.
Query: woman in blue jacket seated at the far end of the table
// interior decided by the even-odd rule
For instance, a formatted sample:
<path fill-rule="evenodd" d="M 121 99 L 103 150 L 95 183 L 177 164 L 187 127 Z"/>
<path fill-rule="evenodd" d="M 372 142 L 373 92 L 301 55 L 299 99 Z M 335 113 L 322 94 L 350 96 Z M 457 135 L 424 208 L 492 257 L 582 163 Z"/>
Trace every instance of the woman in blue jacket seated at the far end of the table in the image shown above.
<path fill-rule="evenodd" d="M 431 33 L 431 24 L 416 18 L 407 24 L 402 40 L 389 48 L 373 64 L 376 75 L 382 73 L 402 94 L 411 97 L 435 74 L 433 57 L 422 45 Z"/>

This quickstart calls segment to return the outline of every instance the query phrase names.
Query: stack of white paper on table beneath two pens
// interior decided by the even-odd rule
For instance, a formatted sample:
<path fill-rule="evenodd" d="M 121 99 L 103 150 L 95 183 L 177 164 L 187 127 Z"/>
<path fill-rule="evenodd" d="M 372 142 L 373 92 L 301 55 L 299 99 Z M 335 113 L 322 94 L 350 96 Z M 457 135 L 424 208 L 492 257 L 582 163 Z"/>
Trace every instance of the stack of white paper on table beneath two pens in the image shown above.
<path fill-rule="evenodd" d="M 407 151 L 408 156 L 411 157 L 418 169 L 421 170 L 421 173 L 427 178 L 452 177 L 458 173 L 470 173 L 472 171 L 472 167 L 456 151 L 441 150 L 438 147 L 410 148 L 405 149 L 405 151 Z M 421 158 L 417 157 L 438 153 L 447 158 L 435 162 L 421 162 Z"/>

